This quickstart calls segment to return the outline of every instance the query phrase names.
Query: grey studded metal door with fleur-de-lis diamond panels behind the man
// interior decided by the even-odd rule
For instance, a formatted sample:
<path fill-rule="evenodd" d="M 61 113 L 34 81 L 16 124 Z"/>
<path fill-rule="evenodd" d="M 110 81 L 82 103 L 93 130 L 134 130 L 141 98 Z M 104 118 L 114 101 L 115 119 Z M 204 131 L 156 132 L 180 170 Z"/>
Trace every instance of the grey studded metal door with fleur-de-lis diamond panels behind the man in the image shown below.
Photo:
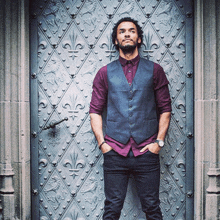
<path fill-rule="evenodd" d="M 89 121 L 92 82 L 118 58 L 114 23 L 144 30 L 140 54 L 169 79 L 172 119 L 161 151 L 164 219 L 193 219 L 193 6 L 190 0 L 31 1 L 33 219 L 96 220 L 104 207 L 103 158 Z M 131 178 L 120 219 L 145 219 Z"/>

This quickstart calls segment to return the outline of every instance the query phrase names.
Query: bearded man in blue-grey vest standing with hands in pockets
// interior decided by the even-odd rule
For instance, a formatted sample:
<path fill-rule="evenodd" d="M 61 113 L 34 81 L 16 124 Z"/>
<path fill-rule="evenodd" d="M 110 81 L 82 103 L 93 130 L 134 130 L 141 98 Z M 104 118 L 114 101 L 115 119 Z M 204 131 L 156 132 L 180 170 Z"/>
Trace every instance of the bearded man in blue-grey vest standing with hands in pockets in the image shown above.
<path fill-rule="evenodd" d="M 142 38 L 137 21 L 119 20 L 113 28 L 112 41 L 120 57 L 102 67 L 93 83 L 90 117 L 104 155 L 104 220 L 120 218 L 130 174 L 147 219 L 162 219 L 158 154 L 169 127 L 171 100 L 163 69 L 138 54 Z"/>

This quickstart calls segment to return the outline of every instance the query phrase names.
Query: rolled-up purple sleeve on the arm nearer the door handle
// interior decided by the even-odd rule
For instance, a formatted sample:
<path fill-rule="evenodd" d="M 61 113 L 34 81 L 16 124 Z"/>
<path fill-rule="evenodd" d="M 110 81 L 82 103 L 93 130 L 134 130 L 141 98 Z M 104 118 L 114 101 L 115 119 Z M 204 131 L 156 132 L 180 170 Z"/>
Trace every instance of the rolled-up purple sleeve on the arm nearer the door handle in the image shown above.
<path fill-rule="evenodd" d="M 89 113 L 101 115 L 107 105 L 108 81 L 107 66 L 102 67 L 96 74 L 93 81 L 92 99 Z"/>

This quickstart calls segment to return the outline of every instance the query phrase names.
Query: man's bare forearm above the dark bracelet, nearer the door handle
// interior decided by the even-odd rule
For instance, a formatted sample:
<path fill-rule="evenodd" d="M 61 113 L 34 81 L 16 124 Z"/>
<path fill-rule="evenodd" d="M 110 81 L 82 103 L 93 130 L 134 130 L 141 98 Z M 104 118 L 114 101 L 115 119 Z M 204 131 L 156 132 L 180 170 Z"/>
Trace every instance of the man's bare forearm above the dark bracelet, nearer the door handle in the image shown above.
<path fill-rule="evenodd" d="M 90 119 L 93 133 L 96 137 L 98 145 L 100 145 L 104 141 L 104 135 L 102 131 L 102 116 L 99 114 L 90 113 Z"/>

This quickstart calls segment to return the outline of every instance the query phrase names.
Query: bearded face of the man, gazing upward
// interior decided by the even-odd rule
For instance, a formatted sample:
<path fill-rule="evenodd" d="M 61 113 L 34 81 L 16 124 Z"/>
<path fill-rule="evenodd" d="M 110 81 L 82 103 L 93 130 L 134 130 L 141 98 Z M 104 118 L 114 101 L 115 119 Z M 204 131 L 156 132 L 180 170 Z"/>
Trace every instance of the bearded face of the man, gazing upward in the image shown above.
<path fill-rule="evenodd" d="M 124 21 L 117 28 L 117 38 L 115 44 L 119 48 L 136 48 L 141 39 L 138 37 L 136 25 L 130 21 Z"/>

